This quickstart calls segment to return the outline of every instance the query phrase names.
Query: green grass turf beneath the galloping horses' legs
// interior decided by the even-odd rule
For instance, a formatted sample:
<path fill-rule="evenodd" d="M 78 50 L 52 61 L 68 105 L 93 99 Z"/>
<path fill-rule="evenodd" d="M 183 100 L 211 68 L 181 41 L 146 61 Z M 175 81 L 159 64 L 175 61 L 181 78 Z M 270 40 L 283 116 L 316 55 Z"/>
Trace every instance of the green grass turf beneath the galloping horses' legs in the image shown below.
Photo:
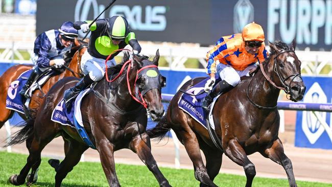
<path fill-rule="evenodd" d="M 48 164 L 49 158 L 42 158 L 38 181 L 33 186 L 54 186 L 55 171 Z M 27 155 L 0 152 L 0 186 L 13 186 L 8 182 L 12 174 L 18 174 L 25 165 Z M 193 170 L 160 168 L 172 186 L 199 186 Z M 158 186 L 157 180 L 146 166 L 116 164 L 116 174 L 122 186 Z M 285 173 L 286 177 L 286 173 Z M 245 176 L 219 174 L 215 183 L 219 186 L 245 186 Z M 297 181 L 301 187 L 331 186 L 332 184 Z M 25 184 L 23 184 L 25 186 Z M 105 174 L 98 162 L 80 162 L 63 180 L 62 186 L 108 186 Z M 252 186 L 288 186 L 287 179 L 255 177 Z"/>

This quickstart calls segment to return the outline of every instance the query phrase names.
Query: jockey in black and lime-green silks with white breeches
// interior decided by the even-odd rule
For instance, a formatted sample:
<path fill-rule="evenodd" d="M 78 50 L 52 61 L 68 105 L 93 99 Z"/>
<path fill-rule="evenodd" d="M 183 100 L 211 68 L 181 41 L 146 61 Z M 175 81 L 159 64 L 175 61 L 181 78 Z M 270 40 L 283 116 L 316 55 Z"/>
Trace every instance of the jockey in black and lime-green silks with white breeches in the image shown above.
<path fill-rule="evenodd" d="M 98 19 L 89 28 L 89 24 L 85 21 L 76 21 L 74 28 L 81 29 L 83 33 L 91 31 L 88 49 L 81 58 L 81 68 L 84 78 L 77 83 L 76 86 L 64 92 L 64 101 L 66 107 L 70 106 L 72 99 L 82 89 L 89 84 L 97 82 L 104 77 L 105 60 L 112 52 L 118 49 L 124 49 L 126 45 L 133 48 L 133 52 L 138 54 L 141 47 L 135 38 L 126 18 L 122 16 L 112 16 L 108 19 Z M 115 52 L 107 61 L 107 66 L 115 65 L 114 57 L 120 51 Z"/>

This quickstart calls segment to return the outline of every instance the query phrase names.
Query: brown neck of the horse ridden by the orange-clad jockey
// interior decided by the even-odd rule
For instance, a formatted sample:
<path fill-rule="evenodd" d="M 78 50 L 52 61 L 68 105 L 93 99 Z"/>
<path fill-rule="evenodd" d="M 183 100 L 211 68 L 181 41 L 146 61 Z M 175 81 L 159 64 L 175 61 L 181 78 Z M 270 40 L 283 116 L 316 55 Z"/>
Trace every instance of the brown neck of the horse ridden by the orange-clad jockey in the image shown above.
<path fill-rule="evenodd" d="M 271 79 L 274 76 L 273 68 L 268 64 L 263 65 L 266 75 Z M 263 69 L 254 75 L 251 82 L 249 80 L 249 97 L 261 106 L 275 106 L 278 100 L 280 89 L 274 87 L 263 75 Z M 273 79 L 271 79 L 273 81 Z M 257 91 L 259 90 L 259 91 Z"/>

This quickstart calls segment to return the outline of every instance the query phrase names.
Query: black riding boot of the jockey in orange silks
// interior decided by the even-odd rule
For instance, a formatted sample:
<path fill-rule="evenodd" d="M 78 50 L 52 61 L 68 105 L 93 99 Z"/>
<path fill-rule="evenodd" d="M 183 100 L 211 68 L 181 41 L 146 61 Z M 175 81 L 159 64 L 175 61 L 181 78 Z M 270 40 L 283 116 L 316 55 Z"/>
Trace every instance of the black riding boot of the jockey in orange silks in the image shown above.
<path fill-rule="evenodd" d="M 220 81 L 215 87 L 214 89 L 212 89 L 211 92 L 208 93 L 208 95 L 204 98 L 203 103 L 202 103 L 202 108 L 205 112 L 207 111 L 207 108 L 210 106 L 210 104 L 212 103 L 212 101 L 214 100 L 214 98 L 216 96 L 219 95 L 219 93 L 221 92 L 226 92 L 228 90 L 230 90 L 231 88 L 233 88 L 234 86 L 228 84 L 226 81 L 222 80 Z"/>

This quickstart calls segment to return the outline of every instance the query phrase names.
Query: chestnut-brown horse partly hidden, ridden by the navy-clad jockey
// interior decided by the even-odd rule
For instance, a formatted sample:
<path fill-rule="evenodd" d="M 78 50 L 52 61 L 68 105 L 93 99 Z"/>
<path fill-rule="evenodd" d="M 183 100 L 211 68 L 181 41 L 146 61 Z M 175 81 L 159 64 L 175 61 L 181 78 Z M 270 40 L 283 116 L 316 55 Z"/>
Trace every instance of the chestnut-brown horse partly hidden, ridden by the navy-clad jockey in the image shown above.
<path fill-rule="evenodd" d="M 75 40 L 75 46 L 66 54 L 65 61 L 66 69 L 63 73 L 51 77 L 45 84 L 41 87 L 41 90 L 36 90 L 33 92 L 31 97 L 31 102 L 29 104 L 30 118 L 35 118 L 35 111 L 39 109 L 40 103 L 44 98 L 44 93 L 47 93 L 49 89 L 60 79 L 64 77 L 81 77 L 81 67 L 80 61 L 81 56 L 85 52 L 86 48 L 83 48 L 85 42 Z M 78 52 L 77 52 L 78 51 Z M 77 53 L 76 53 L 77 52 Z M 74 57 L 73 57 L 74 55 Z M 20 74 L 31 69 L 32 65 L 14 65 L 7 69 L 7 71 L 0 77 L 0 128 L 7 122 L 14 114 L 13 110 L 6 108 L 6 97 L 7 91 L 10 84 L 15 81 Z M 19 113 L 19 112 L 18 112 Z M 22 119 L 27 120 L 25 114 L 19 113 Z"/>

